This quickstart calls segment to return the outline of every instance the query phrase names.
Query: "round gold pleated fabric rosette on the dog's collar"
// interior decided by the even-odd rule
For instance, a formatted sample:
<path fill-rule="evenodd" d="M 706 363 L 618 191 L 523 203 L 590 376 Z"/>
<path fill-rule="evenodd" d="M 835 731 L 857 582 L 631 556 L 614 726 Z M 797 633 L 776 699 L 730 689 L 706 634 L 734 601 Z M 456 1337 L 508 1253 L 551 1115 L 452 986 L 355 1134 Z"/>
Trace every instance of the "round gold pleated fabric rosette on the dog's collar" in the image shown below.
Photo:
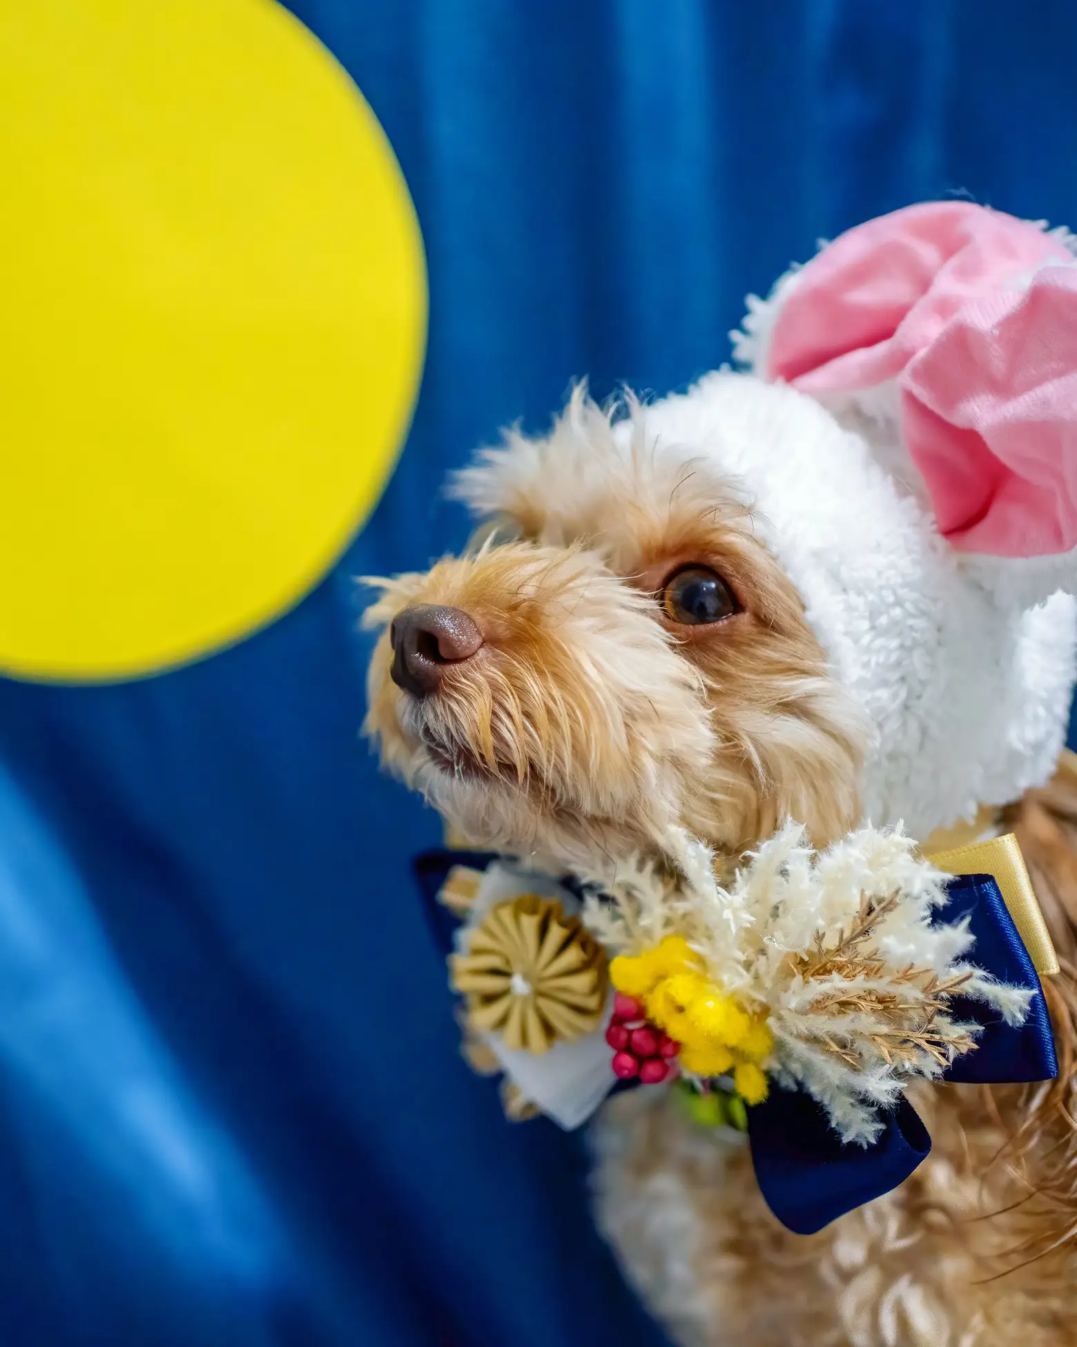
<path fill-rule="evenodd" d="M 497 902 L 450 959 L 450 985 L 466 998 L 467 1025 L 512 1052 L 545 1053 L 602 1024 L 606 952 L 556 898 L 524 893 Z"/>

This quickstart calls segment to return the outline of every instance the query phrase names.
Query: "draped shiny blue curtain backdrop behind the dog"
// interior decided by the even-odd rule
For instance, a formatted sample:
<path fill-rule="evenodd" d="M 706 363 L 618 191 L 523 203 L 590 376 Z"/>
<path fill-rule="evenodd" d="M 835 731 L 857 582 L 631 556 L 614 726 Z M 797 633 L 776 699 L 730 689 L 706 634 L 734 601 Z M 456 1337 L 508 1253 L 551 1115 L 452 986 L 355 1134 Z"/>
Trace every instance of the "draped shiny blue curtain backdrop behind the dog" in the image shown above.
<path fill-rule="evenodd" d="M 744 291 L 819 237 L 948 193 L 1077 225 L 1077 9 L 293 8 L 419 209 L 421 399 L 373 521 L 268 630 L 0 686 L 0 1342 L 658 1343 L 578 1138 L 508 1126 L 458 1059 L 408 878 L 439 828 L 358 740 L 351 577 L 458 543 L 444 470 L 572 377 L 728 358 Z"/>

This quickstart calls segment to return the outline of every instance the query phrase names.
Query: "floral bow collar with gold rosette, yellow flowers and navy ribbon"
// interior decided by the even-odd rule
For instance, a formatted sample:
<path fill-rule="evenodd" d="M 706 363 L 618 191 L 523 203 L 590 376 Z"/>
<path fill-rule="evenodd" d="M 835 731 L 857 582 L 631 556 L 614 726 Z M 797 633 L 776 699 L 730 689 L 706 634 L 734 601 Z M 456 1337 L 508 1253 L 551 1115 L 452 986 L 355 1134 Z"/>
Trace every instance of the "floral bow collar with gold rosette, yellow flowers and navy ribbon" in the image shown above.
<path fill-rule="evenodd" d="M 700 842 L 674 830 L 669 851 L 676 881 L 419 858 L 466 1055 L 510 1117 L 572 1129 L 615 1088 L 674 1088 L 747 1134 L 771 1211 L 810 1234 L 926 1157 L 911 1080 L 1057 1075 L 1058 964 L 1012 836 L 928 859 L 898 830 L 817 853 L 789 824 L 728 888 Z"/>

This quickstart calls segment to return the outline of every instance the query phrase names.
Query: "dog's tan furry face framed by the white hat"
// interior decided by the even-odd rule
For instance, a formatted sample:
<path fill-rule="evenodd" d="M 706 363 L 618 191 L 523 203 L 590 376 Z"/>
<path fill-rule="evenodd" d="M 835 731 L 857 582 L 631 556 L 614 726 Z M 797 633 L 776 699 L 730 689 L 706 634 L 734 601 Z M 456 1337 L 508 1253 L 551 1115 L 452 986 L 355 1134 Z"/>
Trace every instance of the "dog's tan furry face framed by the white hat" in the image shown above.
<path fill-rule="evenodd" d="M 517 536 L 372 582 L 368 730 L 468 841 L 548 863 L 661 854 L 672 824 L 824 843 L 856 819 L 863 715 L 735 484 L 629 412 L 578 395 L 459 474 Z"/>

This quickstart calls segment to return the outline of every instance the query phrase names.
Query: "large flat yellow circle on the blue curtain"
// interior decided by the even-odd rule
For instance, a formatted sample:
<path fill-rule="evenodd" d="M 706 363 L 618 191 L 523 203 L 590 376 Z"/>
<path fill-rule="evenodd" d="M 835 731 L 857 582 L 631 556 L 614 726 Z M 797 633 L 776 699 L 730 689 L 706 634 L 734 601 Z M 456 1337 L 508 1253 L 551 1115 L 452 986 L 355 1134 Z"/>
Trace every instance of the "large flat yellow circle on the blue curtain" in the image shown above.
<path fill-rule="evenodd" d="M 0 672 L 145 675 L 295 603 L 396 461 L 404 179 L 272 0 L 0 5 Z"/>

